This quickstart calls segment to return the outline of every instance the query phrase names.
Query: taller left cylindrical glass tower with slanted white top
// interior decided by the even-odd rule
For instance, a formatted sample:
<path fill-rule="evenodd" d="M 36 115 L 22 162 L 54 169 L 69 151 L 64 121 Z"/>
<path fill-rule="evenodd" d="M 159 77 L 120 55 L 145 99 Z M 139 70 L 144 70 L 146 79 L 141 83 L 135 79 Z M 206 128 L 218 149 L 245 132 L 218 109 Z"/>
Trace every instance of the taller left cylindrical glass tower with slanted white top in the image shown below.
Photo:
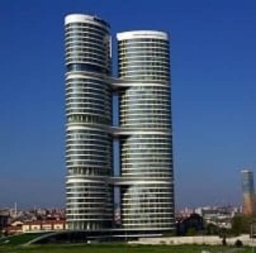
<path fill-rule="evenodd" d="M 111 45 L 109 25 L 95 16 L 65 17 L 67 225 L 112 224 Z"/>

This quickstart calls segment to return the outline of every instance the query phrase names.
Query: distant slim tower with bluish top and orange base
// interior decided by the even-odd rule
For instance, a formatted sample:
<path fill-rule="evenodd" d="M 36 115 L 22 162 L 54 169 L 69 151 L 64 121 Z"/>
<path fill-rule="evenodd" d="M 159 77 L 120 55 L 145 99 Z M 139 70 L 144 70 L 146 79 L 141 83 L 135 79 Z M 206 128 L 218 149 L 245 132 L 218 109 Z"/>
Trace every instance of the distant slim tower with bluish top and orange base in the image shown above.
<path fill-rule="evenodd" d="M 243 182 L 243 214 L 245 216 L 252 216 L 255 214 L 253 171 L 243 170 L 241 174 Z"/>

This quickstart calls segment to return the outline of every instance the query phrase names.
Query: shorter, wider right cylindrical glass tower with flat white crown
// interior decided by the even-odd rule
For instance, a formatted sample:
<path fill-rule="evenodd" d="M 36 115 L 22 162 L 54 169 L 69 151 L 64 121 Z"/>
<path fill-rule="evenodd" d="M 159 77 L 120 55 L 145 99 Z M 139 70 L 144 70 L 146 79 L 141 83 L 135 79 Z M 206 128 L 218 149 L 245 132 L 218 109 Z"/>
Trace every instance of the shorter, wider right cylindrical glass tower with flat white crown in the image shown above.
<path fill-rule="evenodd" d="M 129 231 L 174 229 L 169 35 L 117 34 L 120 92 L 122 226 Z M 125 183 L 124 183 L 125 184 Z"/>

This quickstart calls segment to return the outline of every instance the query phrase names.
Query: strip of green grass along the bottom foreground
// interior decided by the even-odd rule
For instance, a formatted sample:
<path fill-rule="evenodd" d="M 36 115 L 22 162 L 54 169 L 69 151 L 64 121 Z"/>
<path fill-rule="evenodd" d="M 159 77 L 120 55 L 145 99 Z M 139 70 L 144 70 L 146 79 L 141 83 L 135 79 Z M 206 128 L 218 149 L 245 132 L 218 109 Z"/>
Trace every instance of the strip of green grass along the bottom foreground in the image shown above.
<path fill-rule="evenodd" d="M 201 253 L 208 250 L 210 253 L 249 253 L 248 247 L 233 248 L 208 245 L 127 245 L 127 244 L 60 244 L 60 245 L 31 245 L 0 246 L 4 253 Z"/>

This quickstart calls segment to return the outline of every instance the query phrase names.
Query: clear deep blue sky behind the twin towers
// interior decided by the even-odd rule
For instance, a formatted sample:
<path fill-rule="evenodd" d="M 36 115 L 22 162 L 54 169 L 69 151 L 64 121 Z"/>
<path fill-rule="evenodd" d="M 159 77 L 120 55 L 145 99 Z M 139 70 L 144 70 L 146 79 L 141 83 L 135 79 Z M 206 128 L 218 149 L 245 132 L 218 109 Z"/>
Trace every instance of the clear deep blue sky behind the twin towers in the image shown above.
<path fill-rule="evenodd" d="M 240 170 L 256 167 L 255 1 L 1 0 L 0 207 L 65 203 L 63 18 L 74 12 L 107 20 L 113 37 L 170 32 L 177 206 L 240 203 Z"/>

